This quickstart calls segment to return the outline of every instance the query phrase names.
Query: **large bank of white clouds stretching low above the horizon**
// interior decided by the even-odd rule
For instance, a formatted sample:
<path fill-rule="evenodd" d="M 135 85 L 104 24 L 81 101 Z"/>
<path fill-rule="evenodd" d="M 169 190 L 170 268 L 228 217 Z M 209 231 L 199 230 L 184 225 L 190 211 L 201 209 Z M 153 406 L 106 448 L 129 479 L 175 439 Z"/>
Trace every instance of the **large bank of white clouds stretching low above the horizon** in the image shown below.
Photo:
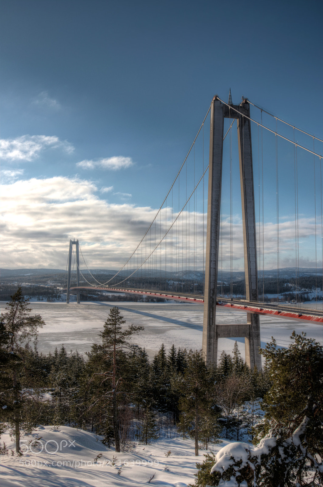
<path fill-rule="evenodd" d="M 110 190 L 110 188 L 108 188 Z M 54 177 L 48 179 L 29 179 L 1 185 L 1 266 L 48 267 L 65 269 L 70 238 L 80 241 L 82 253 L 90 268 L 119 268 L 136 248 L 157 210 L 149 206 L 140 207 L 123 204 L 110 204 L 97 195 L 97 187 L 78 178 Z M 108 191 L 107 191 L 108 192 Z M 143 253 L 155 246 L 156 239 L 164 234 L 165 227 L 171 223 L 172 211 L 162 209 L 161 218 L 148 232 Z M 173 217 L 177 216 L 173 211 Z M 188 219 L 190 217 L 190 227 Z M 160 223 L 159 223 L 160 222 Z M 206 215 L 204 215 L 206 224 Z M 196 227 L 196 235 L 192 229 Z M 317 219 L 317 228 L 321 228 Z M 233 220 L 233 268 L 243 269 L 242 222 Z M 108 228 L 108 231 L 107 231 Z M 314 219 L 299 219 L 300 266 L 315 267 Z M 319 230 L 317 230 L 319 232 Z M 204 226 L 205 232 L 205 226 Z M 265 268 L 276 265 L 276 225 L 265 225 Z M 167 258 L 173 242 L 173 270 L 202 267 L 203 256 L 203 215 L 183 213 L 167 237 Z M 319 240 L 319 233 L 317 236 Z M 204 244 L 206 242 L 204 233 Z M 194 248 L 196 252 L 194 253 Z M 262 244 L 261 244 L 262 248 Z M 184 249 L 184 254 L 183 254 Z M 158 249 L 157 261 L 150 261 L 164 268 L 165 243 Z M 223 269 L 230 269 L 230 219 L 222 221 Z M 319 252 L 318 252 L 319 254 Z M 287 221 L 280 225 L 280 266 L 294 266 L 295 222 Z M 314 255 L 314 259 L 313 259 Z M 175 256 L 175 257 L 174 257 Z M 160 258 L 162 261 L 160 261 Z M 205 258 L 205 249 L 204 249 Z M 175 261 L 174 261 L 175 259 Z M 318 266 L 322 264 L 319 262 Z"/>

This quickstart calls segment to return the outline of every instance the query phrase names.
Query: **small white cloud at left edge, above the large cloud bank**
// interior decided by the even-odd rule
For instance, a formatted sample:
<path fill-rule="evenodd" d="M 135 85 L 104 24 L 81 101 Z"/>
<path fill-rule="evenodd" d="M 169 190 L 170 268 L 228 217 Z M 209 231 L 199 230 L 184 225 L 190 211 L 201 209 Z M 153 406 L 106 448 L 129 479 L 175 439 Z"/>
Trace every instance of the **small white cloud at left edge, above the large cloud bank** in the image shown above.
<path fill-rule="evenodd" d="M 68 154 L 74 150 L 67 140 L 59 140 L 55 135 L 21 135 L 16 139 L 0 141 L 1 157 L 8 161 L 33 161 L 42 150 L 62 149 Z"/>

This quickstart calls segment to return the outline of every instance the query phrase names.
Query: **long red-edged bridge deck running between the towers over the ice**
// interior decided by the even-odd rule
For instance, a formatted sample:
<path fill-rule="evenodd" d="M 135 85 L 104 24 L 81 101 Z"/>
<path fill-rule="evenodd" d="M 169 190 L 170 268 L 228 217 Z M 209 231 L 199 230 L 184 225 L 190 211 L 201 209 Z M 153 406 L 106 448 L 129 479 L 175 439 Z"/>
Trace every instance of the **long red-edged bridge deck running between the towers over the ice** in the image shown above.
<path fill-rule="evenodd" d="M 115 288 L 106 286 L 77 286 L 71 287 L 70 291 L 72 290 L 112 291 L 117 293 L 139 294 L 144 296 L 151 296 L 152 298 L 163 298 L 167 300 L 179 300 L 200 304 L 204 303 L 204 297 L 202 297 L 200 294 L 171 293 L 169 291 L 157 291 L 150 289 Z M 216 305 L 222 306 L 225 309 L 234 309 L 237 311 L 245 311 L 247 313 L 271 315 L 277 318 L 303 319 L 306 321 L 316 321 L 323 323 L 323 310 L 300 307 L 296 304 L 293 306 L 292 304 L 287 305 L 261 301 L 248 301 L 237 298 L 223 298 L 221 296 L 218 296 L 216 299 Z"/>

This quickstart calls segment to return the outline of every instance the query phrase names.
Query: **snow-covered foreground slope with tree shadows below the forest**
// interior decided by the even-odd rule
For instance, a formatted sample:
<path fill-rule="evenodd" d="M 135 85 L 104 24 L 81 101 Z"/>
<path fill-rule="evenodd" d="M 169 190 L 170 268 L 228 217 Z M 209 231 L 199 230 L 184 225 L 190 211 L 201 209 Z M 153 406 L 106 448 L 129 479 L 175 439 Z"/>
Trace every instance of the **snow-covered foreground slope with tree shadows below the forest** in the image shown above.
<path fill-rule="evenodd" d="M 184 487 L 195 483 L 196 462 L 202 462 L 203 453 L 206 453 L 200 450 L 196 457 L 191 439 L 163 438 L 151 445 L 136 443 L 133 451 L 124 453 L 109 449 L 100 439 L 94 433 L 68 426 L 56 430 L 53 426 L 40 426 L 32 434 L 21 437 L 21 451 L 25 453 L 17 457 L 16 454 L 11 456 L 14 442 L 9 434 L 3 434 L 1 445 L 5 442 L 9 455 L 1 455 L 1 487 L 136 487 L 148 484 Z M 223 440 L 211 449 L 216 453 L 228 443 L 232 442 Z"/>

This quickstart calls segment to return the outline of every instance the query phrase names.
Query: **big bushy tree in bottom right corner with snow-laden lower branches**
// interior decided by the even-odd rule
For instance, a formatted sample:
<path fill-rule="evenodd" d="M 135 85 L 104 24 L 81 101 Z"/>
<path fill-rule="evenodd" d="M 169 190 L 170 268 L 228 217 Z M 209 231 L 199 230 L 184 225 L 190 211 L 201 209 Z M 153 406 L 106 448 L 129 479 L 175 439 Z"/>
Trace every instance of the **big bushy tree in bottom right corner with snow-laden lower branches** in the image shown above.
<path fill-rule="evenodd" d="M 264 398 L 265 418 L 255 428 L 258 443 L 223 447 L 210 473 L 211 458 L 200 466 L 196 485 L 323 485 L 323 347 L 305 335 L 293 332 L 287 349 L 277 348 L 274 339 L 262 349 L 272 386 Z"/>

